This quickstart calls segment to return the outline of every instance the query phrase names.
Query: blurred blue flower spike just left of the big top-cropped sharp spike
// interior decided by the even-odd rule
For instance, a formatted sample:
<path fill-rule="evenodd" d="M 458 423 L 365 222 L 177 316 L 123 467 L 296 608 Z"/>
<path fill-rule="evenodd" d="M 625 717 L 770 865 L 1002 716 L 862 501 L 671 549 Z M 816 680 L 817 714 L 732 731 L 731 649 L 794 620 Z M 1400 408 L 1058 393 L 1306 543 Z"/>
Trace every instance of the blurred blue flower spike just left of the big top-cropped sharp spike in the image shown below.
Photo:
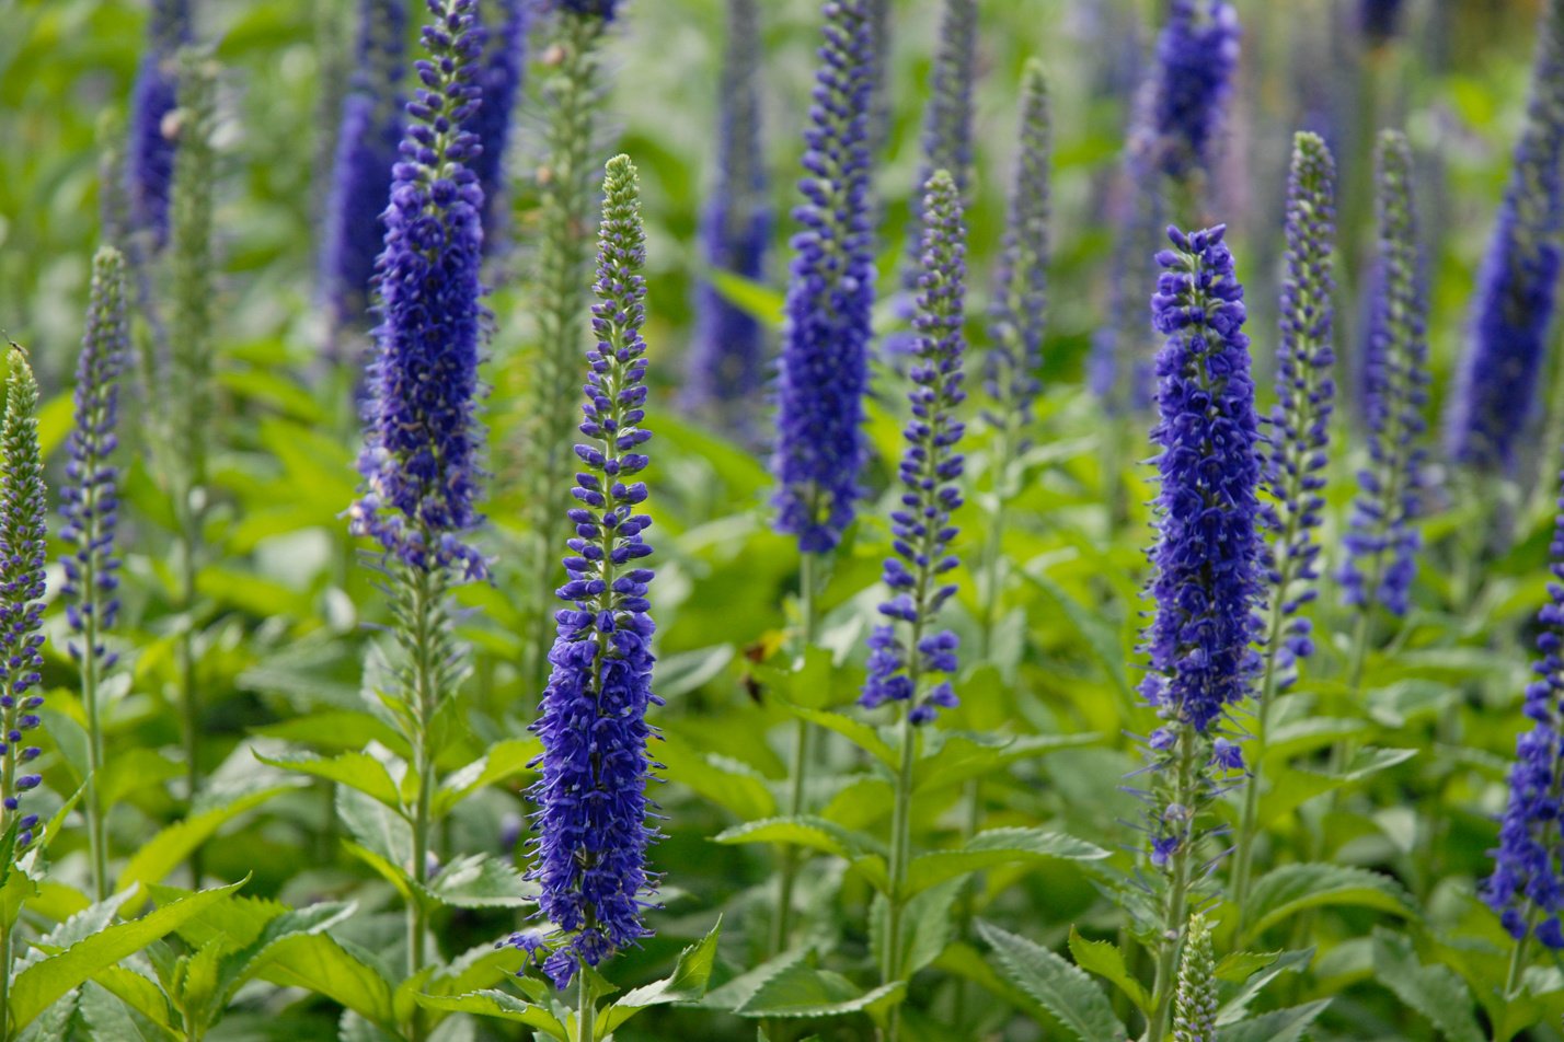
<path fill-rule="evenodd" d="M 358 0 L 353 72 L 343 97 L 321 242 L 321 287 L 333 350 L 341 330 L 369 319 L 375 259 L 385 244 L 380 219 L 402 141 L 405 37 L 405 0 Z"/>

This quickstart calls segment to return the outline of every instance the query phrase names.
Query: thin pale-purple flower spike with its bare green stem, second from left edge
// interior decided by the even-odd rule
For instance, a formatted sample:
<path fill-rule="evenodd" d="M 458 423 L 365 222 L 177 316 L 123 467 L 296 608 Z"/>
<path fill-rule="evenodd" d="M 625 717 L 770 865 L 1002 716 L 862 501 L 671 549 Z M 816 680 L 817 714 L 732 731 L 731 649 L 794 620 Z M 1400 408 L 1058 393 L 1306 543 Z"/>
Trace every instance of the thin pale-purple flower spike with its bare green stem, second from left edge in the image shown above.
<path fill-rule="evenodd" d="M 70 658 L 81 667 L 81 709 L 88 731 L 88 780 L 84 806 L 88 853 L 97 900 L 109 894 L 108 839 L 103 831 L 102 797 L 97 790 L 103 765 L 100 683 L 114 667 L 116 655 L 103 636 L 119 616 L 119 558 L 114 533 L 119 522 L 119 467 L 111 459 L 119 447 L 119 376 L 130 358 L 125 319 L 125 258 L 103 247 L 92 258 L 92 292 L 86 333 L 77 359 L 74 425 L 66 439 L 66 483 L 59 489 L 59 541 L 72 547 L 59 561 L 66 620 L 75 641 Z"/>

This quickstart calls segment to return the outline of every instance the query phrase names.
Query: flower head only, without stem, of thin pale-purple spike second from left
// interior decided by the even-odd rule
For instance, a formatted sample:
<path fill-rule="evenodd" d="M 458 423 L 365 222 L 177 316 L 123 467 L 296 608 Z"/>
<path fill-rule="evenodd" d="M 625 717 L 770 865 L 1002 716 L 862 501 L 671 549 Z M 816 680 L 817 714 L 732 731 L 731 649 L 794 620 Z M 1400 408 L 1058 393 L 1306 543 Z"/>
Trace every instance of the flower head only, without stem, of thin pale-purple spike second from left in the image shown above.
<path fill-rule="evenodd" d="M 61 558 L 66 620 L 88 639 L 70 644 L 70 656 L 109 661 L 99 642 L 119 614 L 119 467 L 109 462 L 119 445 L 119 375 L 130 358 L 125 320 L 125 258 L 111 247 L 92 258 L 92 292 L 86 333 L 77 358 L 74 426 L 66 439 L 66 484 L 59 491 L 61 542 L 74 550 Z"/>

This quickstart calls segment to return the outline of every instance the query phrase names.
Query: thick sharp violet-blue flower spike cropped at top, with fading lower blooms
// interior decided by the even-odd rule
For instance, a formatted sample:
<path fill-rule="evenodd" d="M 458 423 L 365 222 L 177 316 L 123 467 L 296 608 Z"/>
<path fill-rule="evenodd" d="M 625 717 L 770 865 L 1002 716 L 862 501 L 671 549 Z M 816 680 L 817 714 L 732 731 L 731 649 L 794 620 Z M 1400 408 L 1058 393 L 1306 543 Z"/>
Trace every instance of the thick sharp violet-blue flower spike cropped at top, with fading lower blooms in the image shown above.
<path fill-rule="evenodd" d="M 407 106 L 411 122 L 391 172 L 382 322 L 358 456 L 364 486 L 350 522 L 408 567 L 460 564 L 482 575 L 483 558 L 461 542 L 479 523 L 472 409 L 483 191 L 468 166 L 480 144 L 461 128 L 479 105 L 483 39 L 474 8 L 475 0 L 429 0 L 435 20 L 424 45 L 433 61 L 414 66 L 424 86 Z"/>

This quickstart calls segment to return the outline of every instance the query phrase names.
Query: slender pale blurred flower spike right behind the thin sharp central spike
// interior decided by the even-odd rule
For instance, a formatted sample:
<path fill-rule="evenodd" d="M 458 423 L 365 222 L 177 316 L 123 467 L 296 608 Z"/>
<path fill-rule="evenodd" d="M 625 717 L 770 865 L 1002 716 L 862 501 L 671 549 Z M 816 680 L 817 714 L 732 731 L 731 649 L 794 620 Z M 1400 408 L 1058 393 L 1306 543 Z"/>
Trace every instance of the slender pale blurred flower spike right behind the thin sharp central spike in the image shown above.
<path fill-rule="evenodd" d="M 1048 78 L 1042 62 L 1026 64 L 1021 81 L 1021 152 L 1010 189 L 1010 219 L 988 308 L 993 348 L 985 364 L 988 397 L 999 422 L 1024 426 L 1042 391 L 1043 328 L 1048 312 L 1048 208 L 1053 148 Z"/>

